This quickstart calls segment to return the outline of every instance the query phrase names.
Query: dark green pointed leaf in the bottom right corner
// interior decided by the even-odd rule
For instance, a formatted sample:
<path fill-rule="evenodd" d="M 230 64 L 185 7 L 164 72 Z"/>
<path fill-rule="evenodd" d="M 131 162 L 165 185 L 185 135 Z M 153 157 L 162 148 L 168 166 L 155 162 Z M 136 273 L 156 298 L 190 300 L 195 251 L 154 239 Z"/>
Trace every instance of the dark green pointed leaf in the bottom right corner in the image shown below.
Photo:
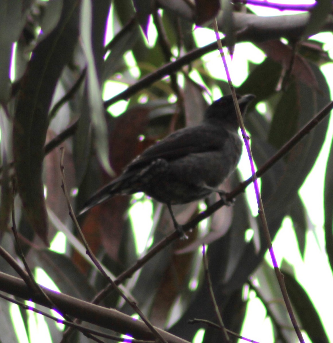
<path fill-rule="evenodd" d="M 284 283 L 293 308 L 300 319 L 300 326 L 312 342 L 329 342 L 318 312 L 305 289 L 286 271 L 283 271 Z"/>

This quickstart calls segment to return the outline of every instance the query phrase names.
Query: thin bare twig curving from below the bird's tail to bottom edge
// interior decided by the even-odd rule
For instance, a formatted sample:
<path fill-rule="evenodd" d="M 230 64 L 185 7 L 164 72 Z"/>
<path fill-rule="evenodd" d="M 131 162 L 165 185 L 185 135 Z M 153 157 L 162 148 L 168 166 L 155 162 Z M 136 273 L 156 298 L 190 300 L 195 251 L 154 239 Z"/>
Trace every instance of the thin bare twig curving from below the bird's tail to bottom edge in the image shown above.
<path fill-rule="evenodd" d="M 92 261 L 94 262 L 94 264 L 96 265 L 96 267 L 98 268 L 98 270 L 101 272 L 101 274 L 108 280 L 108 282 L 110 283 L 110 285 L 112 285 L 112 287 L 117 291 L 117 293 L 119 294 L 119 296 L 121 296 L 132 308 L 133 310 L 135 310 L 137 312 L 137 314 L 140 316 L 140 318 L 142 319 L 142 321 L 147 325 L 147 327 L 151 330 L 151 332 L 153 333 L 153 335 L 155 335 L 155 337 L 162 343 L 167 343 L 167 341 L 163 338 L 163 336 L 153 327 L 153 325 L 150 323 L 150 321 L 148 320 L 148 318 L 146 316 L 144 316 L 144 314 L 141 312 L 141 310 L 138 308 L 138 306 L 136 305 L 136 303 L 134 301 L 131 301 L 125 294 L 123 294 L 120 290 L 120 288 L 115 284 L 115 282 L 111 279 L 111 277 L 109 277 L 107 275 L 107 273 L 104 271 L 103 267 L 100 265 L 99 261 L 97 260 L 96 256 L 94 255 L 94 253 L 92 252 L 92 250 L 90 249 L 83 233 L 82 230 L 76 220 L 76 217 L 74 215 L 74 211 L 71 205 L 71 202 L 69 201 L 69 195 L 68 195 L 68 191 L 67 191 L 67 187 L 66 187 L 66 180 L 65 180 L 65 166 L 64 166 L 64 147 L 61 147 L 61 158 L 60 158 L 60 170 L 61 170 L 61 180 L 62 180 L 62 185 L 61 188 L 63 189 L 63 192 L 65 194 L 65 198 L 66 198 L 66 202 L 67 202 L 67 206 L 68 206 L 68 210 L 69 210 L 69 216 L 72 218 L 75 227 L 77 229 L 77 232 L 80 236 L 80 238 L 83 241 L 84 246 L 87 249 L 87 254 L 88 256 L 92 259 Z"/>

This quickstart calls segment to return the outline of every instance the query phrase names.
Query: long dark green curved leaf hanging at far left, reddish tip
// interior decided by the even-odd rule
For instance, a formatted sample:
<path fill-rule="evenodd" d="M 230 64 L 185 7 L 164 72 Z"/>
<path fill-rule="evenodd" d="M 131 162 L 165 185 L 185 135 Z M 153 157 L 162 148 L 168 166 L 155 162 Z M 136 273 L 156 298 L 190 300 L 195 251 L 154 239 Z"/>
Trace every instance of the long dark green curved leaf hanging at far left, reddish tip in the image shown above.
<path fill-rule="evenodd" d="M 77 42 L 77 9 L 77 1 L 65 1 L 58 25 L 33 50 L 14 116 L 13 154 L 18 190 L 30 225 L 46 245 L 49 241 L 42 164 L 48 112 L 58 78 Z"/>

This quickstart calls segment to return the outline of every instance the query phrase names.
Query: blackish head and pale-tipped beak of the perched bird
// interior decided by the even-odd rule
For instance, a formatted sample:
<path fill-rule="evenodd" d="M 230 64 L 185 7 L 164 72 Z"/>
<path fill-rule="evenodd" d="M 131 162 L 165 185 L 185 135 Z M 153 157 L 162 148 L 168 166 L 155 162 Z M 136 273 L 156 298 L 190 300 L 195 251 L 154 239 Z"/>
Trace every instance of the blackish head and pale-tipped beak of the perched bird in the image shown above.
<path fill-rule="evenodd" d="M 244 115 L 248 104 L 254 98 L 255 96 L 253 94 L 244 96 L 237 94 L 238 105 L 242 115 Z M 211 123 L 228 123 L 238 129 L 238 121 L 232 95 L 226 95 L 215 100 L 212 105 L 207 108 L 204 114 L 204 121 Z"/>

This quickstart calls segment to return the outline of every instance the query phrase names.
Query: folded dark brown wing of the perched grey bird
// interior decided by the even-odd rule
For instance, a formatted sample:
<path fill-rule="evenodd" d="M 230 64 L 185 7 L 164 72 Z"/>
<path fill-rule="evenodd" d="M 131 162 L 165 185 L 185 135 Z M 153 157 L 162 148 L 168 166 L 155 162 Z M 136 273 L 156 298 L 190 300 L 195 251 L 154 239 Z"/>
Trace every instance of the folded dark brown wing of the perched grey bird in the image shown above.
<path fill-rule="evenodd" d="M 175 131 L 145 150 L 128 165 L 126 171 L 145 167 L 158 158 L 173 161 L 188 154 L 223 149 L 228 135 L 227 130 L 213 125 L 198 125 Z"/>

